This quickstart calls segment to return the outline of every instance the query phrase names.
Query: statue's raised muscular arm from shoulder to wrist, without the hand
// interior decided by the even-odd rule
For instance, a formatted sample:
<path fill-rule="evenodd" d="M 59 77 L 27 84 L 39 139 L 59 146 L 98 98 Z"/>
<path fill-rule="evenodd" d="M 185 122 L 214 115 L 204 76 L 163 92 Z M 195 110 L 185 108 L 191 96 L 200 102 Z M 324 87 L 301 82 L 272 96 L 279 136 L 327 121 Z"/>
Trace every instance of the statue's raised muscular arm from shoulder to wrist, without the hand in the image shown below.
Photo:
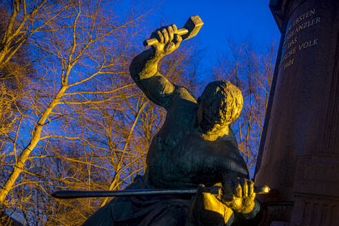
<path fill-rule="evenodd" d="M 161 56 L 155 56 L 154 48 L 145 50 L 132 60 L 130 74 L 150 101 L 167 110 L 171 105 L 174 85 L 157 71 L 160 59 Z"/>

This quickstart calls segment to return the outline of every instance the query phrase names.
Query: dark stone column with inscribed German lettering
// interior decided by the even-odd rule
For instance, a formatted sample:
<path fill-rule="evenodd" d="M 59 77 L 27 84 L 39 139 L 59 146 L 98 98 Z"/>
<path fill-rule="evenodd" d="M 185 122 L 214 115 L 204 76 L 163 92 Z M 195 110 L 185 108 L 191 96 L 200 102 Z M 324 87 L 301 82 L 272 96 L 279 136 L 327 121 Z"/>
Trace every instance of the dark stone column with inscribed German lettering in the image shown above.
<path fill-rule="evenodd" d="M 277 192 L 259 198 L 270 222 L 339 225 L 339 1 L 270 7 L 285 39 L 256 184 Z"/>

